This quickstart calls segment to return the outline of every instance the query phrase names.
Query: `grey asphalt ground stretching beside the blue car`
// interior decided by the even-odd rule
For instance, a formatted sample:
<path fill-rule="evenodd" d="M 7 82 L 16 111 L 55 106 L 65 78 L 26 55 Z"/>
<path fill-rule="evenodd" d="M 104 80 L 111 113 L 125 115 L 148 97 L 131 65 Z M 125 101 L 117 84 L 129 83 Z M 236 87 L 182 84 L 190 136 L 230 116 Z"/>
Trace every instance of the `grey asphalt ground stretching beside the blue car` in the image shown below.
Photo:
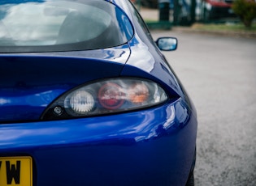
<path fill-rule="evenodd" d="M 164 53 L 197 108 L 196 185 L 256 185 L 256 40 L 177 31 Z"/>

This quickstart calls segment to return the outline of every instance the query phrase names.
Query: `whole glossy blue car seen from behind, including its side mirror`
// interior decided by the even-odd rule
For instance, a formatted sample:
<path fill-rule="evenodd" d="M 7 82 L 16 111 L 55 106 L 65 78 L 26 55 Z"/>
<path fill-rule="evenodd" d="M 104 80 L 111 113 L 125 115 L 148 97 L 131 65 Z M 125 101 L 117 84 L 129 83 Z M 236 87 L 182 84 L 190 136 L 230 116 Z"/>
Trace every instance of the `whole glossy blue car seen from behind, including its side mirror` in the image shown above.
<path fill-rule="evenodd" d="M 1 0 L 0 185 L 193 185 L 176 47 L 128 0 Z"/>

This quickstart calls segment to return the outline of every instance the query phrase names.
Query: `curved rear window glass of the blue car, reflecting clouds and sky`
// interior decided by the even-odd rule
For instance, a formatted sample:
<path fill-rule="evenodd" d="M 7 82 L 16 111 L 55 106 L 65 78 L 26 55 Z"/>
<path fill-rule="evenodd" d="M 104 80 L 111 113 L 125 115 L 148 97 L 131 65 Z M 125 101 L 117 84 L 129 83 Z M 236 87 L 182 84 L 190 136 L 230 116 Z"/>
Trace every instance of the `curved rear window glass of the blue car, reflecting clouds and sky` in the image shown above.
<path fill-rule="evenodd" d="M 103 49 L 132 36 L 123 11 L 103 0 L 0 2 L 0 53 Z"/>

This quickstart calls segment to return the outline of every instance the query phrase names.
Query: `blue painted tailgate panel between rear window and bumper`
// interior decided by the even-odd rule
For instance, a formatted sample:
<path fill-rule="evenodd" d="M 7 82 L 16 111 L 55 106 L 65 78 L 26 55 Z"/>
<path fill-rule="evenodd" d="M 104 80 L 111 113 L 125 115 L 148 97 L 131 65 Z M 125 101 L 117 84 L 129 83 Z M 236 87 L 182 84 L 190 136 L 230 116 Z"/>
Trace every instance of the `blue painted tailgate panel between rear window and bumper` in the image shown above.
<path fill-rule="evenodd" d="M 129 53 L 124 45 L 81 53 L 0 55 L 4 79 L 0 82 L 0 123 L 39 120 L 46 107 L 65 91 L 96 79 L 118 77 Z"/>

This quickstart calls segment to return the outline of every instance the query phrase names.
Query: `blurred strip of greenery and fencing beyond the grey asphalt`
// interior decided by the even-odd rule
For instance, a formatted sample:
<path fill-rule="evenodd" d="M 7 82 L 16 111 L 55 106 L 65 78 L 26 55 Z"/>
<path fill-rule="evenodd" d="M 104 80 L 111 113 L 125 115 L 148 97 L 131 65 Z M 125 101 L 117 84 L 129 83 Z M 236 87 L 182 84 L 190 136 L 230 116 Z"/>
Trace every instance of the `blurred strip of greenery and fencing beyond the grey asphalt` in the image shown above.
<path fill-rule="evenodd" d="M 256 0 L 132 0 L 132 2 L 150 28 L 192 27 L 210 31 L 215 29 L 242 31 L 256 36 Z"/>

